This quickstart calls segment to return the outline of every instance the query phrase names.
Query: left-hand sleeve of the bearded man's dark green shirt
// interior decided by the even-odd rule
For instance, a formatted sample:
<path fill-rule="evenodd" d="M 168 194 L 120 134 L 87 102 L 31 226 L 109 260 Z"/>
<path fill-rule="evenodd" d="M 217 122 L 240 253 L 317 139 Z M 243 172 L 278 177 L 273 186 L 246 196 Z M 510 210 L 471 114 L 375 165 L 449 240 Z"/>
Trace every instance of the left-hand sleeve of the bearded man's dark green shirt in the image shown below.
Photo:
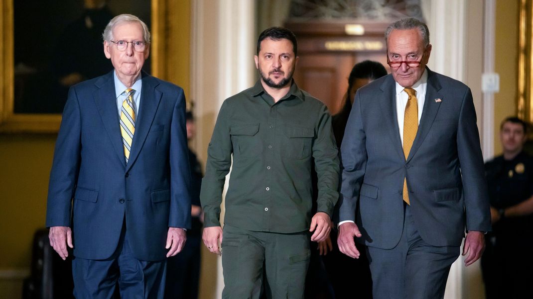
<path fill-rule="evenodd" d="M 202 180 L 200 202 L 204 210 L 204 226 L 220 226 L 220 205 L 225 177 L 230 171 L 231 143 L 228 101 L 220 107 L 209 147 L 205 176 Z"/>

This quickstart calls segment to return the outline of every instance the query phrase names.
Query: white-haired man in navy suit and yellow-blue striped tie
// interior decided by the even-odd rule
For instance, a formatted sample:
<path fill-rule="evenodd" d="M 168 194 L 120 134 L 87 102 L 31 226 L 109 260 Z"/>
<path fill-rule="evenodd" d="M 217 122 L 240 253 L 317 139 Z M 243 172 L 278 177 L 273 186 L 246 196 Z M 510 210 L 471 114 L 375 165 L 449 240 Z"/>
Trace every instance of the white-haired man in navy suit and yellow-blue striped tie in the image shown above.
<path fill-rule="evenodd" d="M 46 226 L 74 295 L 162 298 L 166 257 L 190 227 L 183 89 L 141 71 L 150 32 L 133 15 L 103 32 L 114 70 L 70 88 L 55 145 Z M 78 45 L 82 46 L 83 45 Z"/>

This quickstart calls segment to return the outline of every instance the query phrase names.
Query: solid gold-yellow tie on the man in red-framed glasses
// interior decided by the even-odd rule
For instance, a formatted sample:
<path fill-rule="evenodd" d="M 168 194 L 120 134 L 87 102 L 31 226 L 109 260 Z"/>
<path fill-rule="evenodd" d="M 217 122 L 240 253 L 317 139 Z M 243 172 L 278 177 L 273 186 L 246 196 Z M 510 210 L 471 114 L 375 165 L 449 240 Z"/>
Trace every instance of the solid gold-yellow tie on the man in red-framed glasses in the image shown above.
<path fill-rule="evenodd" d="M 403 91 L 409 95 L 403 117 L 403 155 L 405 155 L 407 160 L 409 151 L 415 140 L 416 131 L 418 131 L 418 102 L 416 98 L 416 90 L 405 88 Z M 410 204 L 409 193 L 407 192 L 407 177 L 403 180 L 403 200 L 407 202 L 407 204 Z"/>

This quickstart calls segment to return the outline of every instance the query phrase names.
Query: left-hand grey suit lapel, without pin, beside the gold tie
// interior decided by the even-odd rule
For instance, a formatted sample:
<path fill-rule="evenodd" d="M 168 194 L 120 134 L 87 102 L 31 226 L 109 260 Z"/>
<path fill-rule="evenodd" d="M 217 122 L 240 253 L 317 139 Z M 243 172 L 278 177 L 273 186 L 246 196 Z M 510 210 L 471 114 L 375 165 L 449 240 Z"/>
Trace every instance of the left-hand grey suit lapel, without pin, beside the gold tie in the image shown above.
<path fill-rule="evenodd" d="M 403 159 L 403 148 L 400 139 L 400 129 L 398 127 L 398 115 L 396 111 L 396 95 L 395 95 L 395 83 L 392 76 L 384 80 L 381 87 L 383 96 L 379 99 L 379 105 L 383 111 L 383 122 L 389 132 L 389 138 L 392 141 L 392 145 L 395 151 Z"/>

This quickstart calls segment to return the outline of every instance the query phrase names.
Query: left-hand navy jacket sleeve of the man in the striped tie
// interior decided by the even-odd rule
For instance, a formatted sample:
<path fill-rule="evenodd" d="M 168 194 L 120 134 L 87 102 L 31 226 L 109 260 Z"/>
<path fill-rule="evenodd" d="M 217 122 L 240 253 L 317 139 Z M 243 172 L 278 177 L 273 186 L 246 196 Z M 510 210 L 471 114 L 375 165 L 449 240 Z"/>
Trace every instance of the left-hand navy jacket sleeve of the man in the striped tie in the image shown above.
<path fill-rule="evenodd" d="M 76 89 L 71 87 L 55 142 L 46 203 L 46 227 L 70 226 L 72 198 L 79 173 L 81 114 Z"/>

